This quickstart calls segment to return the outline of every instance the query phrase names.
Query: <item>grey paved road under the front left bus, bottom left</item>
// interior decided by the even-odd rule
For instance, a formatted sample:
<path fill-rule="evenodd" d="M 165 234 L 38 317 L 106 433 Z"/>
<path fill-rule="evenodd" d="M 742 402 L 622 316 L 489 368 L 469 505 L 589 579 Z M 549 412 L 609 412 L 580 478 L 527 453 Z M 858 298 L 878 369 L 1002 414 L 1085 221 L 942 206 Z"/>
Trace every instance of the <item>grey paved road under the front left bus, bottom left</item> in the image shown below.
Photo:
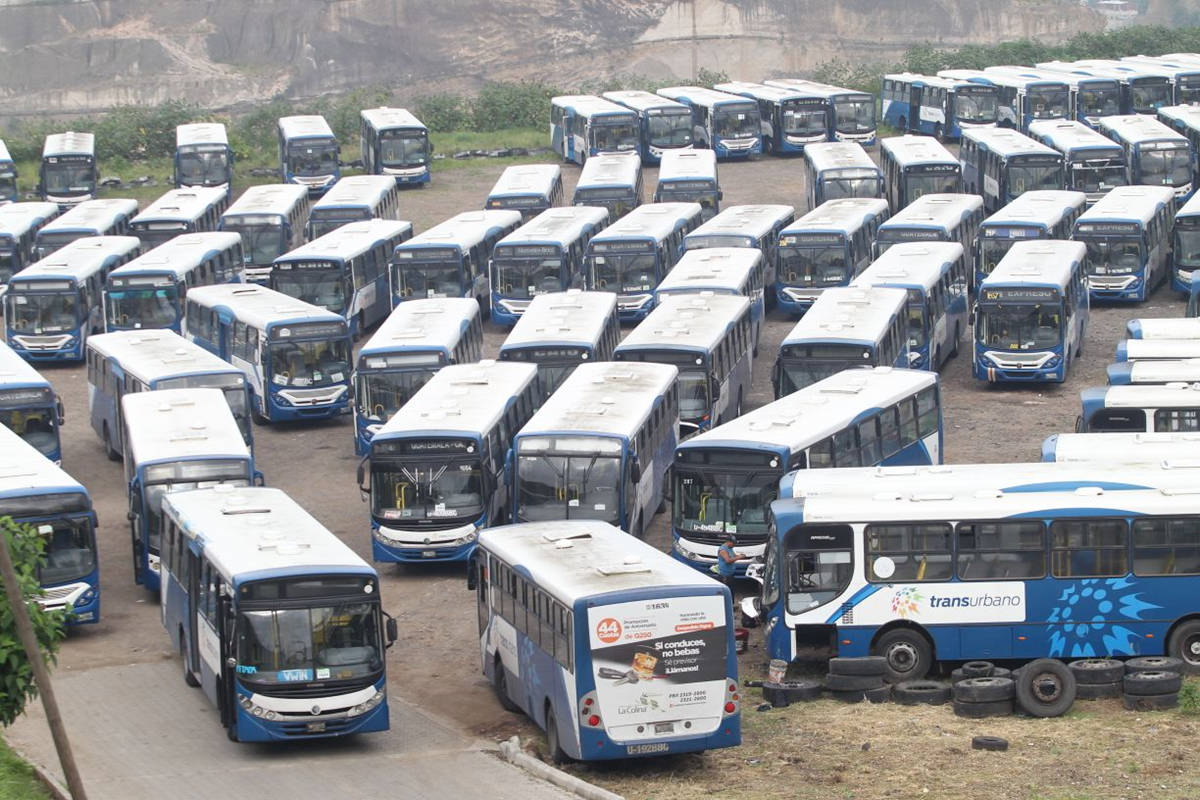
<path fill-rule="evenodd" d="M 286 747 L 234 744 L 204 694 L 184 685 L 178 666 L 161 661 L 55 676 L 91 800 L 444 800 L 478 796 L 482 787 L 497 800 L 568 796 L 395 697 L 385 733 Z M 61 780 L 40 703 L 5 735 Z"/>

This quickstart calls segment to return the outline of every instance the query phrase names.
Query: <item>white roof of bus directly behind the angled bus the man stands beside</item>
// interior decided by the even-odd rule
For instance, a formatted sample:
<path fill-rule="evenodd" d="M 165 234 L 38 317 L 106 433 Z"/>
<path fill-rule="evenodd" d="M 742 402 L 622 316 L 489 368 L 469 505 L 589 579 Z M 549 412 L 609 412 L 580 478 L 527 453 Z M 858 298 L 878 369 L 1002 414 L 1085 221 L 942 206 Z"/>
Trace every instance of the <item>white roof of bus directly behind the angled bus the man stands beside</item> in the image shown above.
<path fill-rule="evenodd" d="M 784 345 L 804 342 L 874 344 L 896 314 L 904 312 L 904 289 L 830 287 L 821 293 L 800 321 L 784 337 Z"/>

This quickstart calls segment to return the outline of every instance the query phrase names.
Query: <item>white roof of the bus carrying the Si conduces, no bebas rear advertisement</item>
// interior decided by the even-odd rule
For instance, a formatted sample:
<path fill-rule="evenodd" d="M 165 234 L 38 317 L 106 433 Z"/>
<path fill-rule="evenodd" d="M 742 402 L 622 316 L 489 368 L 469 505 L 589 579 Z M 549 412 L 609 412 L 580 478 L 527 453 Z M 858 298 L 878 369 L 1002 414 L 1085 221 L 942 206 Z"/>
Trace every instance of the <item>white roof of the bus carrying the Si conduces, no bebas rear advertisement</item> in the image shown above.
<path fill-rule="evenodd" d="M 606 522 L 571 519 L 485 528 L 479 531 L 479 545 L 565 606 L 587 597 L 606 602 L 610 595 L 616 600 L 635 589 L 722 591 L 713 578 Z"/>

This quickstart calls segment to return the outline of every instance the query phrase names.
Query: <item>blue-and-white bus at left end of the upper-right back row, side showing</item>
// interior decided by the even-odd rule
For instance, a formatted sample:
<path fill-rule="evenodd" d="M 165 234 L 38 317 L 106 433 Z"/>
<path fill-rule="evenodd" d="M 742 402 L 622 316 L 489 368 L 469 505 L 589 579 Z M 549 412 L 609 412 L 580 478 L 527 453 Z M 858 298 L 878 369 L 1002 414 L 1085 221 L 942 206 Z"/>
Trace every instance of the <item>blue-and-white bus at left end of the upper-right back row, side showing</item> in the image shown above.
<path fill-rule="evenodd" d="M 900 72 L 883 76 L 883 121 L 902 133 L 959 139 L 964 131 L 994 128 L 998 89 L 971 80 Z"/>

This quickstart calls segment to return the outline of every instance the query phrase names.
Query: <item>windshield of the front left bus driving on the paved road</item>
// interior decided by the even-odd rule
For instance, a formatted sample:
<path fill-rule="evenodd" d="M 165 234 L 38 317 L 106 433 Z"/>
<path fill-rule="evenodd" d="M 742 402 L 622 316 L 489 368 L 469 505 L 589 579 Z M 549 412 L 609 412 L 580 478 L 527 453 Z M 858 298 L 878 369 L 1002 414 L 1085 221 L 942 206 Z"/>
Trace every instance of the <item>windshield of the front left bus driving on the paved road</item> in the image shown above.
<path fill-rule="evenodd" d="M 238 679 L 295 686 L 383 672 L 377 602 L 238 614 Z"/>

